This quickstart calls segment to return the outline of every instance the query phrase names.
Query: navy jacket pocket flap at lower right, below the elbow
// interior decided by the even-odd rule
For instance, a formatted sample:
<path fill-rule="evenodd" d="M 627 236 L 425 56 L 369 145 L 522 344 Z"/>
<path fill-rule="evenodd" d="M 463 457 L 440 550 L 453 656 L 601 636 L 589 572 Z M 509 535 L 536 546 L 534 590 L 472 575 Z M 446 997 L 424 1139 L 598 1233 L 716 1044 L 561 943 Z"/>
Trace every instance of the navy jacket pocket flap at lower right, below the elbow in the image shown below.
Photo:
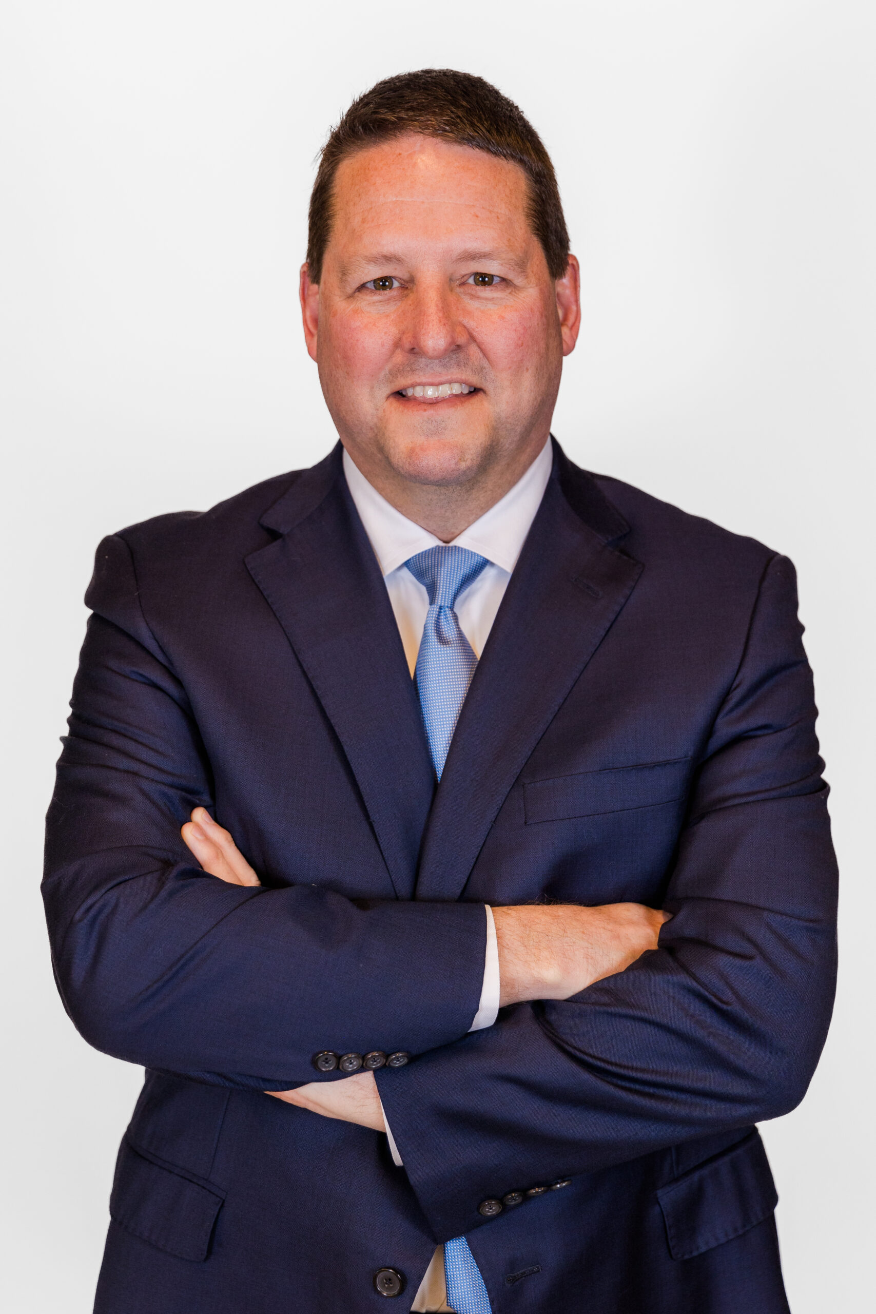
<path fill-rule="evenodd" d="M 763 1222 L 779 1197 L 756 1131 L 657 1192 L 672 1259 L 692 1259 Z"/>

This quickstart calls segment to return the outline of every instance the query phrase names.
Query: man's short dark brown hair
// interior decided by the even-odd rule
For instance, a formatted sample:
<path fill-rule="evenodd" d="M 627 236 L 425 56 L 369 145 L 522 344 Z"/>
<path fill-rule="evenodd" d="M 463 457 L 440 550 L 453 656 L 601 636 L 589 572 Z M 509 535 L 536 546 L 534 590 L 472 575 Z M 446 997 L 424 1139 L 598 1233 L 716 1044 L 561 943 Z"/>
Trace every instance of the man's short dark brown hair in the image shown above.
<path fill-rule="evenodd" d="M 483 78 L 454 68 L 420 68 L 376 83 L 353 101 L 319 156 L 310 194 L 307 268 L 314 283 L 332 223 L 332 185 L 343 159 L 378 142 L 419 133 L 519 164 L 529 183 L 529 221 L 553 279 L 569 264 L 569 233 L 550 156 L 514 101 Z"/>

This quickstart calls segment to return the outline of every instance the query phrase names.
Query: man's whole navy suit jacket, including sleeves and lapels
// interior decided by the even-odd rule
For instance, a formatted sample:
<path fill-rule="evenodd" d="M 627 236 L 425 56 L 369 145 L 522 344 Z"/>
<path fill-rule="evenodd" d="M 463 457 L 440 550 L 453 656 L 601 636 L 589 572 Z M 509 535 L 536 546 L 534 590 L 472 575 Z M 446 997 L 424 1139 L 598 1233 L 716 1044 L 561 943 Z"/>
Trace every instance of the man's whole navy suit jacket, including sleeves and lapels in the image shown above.
<path fill-rule="evenodd" d="M 106 539 L 87 600 L 45 899 L 74 1022 L 147 1070 L 99 1314 L 365 1314 L 382 1267 L 410 1309 L 461 1234 L 495 1314 L 785 1311 L 754 1123 L 835 957 L 791 564 L 556 447 L 440 787 L 340 449 Z M 263 888 L 192 865 L 198 804 Z M 483 904 L 529 900 L 674 916 L 466 1034 Z M 377 1072 L 403 1169 L 263 1093 L 320 1050 L 412 1055 Z"/>

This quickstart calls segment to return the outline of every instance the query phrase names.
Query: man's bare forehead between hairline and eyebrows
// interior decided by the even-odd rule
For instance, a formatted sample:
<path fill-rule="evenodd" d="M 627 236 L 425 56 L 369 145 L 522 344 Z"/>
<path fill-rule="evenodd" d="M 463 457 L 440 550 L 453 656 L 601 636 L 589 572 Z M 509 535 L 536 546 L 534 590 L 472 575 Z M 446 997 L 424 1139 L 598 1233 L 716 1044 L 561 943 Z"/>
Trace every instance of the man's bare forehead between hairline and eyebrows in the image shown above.
<path fill-rule="evenodd" d="M 334 188 L 330 246 L 390 235 L 419 240 L 532 240 L 519 164 L 431 137 L 405 135 L 347 156 Z"/>

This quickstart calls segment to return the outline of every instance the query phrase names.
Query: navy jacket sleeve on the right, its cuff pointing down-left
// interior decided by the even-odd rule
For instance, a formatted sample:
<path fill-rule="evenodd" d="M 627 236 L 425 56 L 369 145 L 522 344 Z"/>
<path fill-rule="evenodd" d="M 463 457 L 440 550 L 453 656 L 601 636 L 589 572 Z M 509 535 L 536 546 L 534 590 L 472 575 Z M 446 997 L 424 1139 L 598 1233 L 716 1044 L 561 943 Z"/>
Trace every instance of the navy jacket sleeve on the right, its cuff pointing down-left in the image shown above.
<path fill-rule="evenodd" d="M 378 1074 L 440 1239 L 485 1197 L 792 1109 L 835 975 L 835 862 L 793 568 L 772 558 L 668 872 L 659 949 Z M 533 1206 L 535 1208 L 535 1206 Z"/>

